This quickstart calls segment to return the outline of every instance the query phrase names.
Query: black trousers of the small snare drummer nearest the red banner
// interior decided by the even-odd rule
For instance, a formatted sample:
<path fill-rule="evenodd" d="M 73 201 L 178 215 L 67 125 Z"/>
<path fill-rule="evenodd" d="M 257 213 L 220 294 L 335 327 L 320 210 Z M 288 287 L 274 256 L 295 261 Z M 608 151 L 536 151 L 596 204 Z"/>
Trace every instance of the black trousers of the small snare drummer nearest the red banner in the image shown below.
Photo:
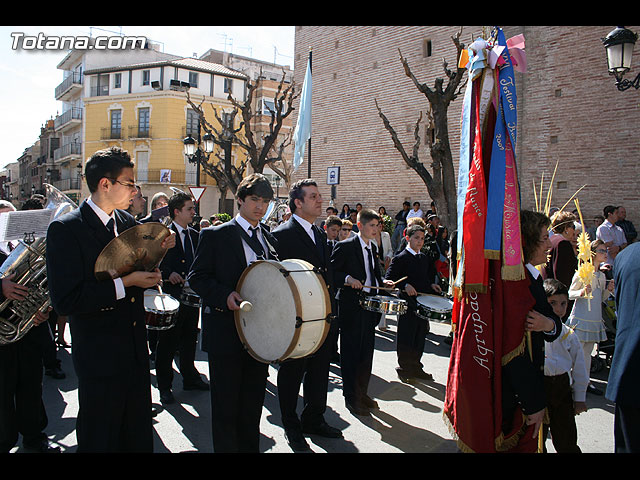
<path fill-rule="evenodd" d="M 398 330 L 396 334 L 396 352 L 398 367 L 401 371 L 411 374 L 422 370 L 422 353 L 424 342 L 429 331 L 429 320 L 424 320 L 409 309 L 404 315 L 398 316 Z"/>

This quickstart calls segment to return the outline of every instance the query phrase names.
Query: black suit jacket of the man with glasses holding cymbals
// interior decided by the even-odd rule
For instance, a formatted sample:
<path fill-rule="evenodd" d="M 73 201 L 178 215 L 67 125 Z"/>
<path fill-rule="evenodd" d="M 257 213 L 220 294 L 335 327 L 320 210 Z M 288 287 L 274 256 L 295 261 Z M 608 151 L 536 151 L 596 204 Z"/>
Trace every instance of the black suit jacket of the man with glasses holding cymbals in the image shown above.
<path fill-rule="evenodd" d="M 115 216 L 119 233 L 136 225 L 123 210 Z M 55 311 L 69 316 L 78 378 L 149 366 L 143 289 L 126 288 L 125 297 L 116 300 L 113 280 L 98 281 L 94 275 L 96 260 L 111 239 L 86 201 L 51 222 L 47 232 L 49 293 Z"/>

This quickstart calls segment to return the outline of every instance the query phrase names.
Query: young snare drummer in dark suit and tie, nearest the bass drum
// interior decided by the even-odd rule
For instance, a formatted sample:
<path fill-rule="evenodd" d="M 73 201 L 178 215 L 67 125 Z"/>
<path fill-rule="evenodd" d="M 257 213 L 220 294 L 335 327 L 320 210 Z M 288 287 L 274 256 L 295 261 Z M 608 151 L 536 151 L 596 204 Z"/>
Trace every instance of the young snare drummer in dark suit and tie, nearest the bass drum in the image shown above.
<path fill-rule="evenodd" d="M 334 284 L 339 288 L 338 322 L 340 325 L 340 362 L 343 395 L 347 408 L 356 415 L 369 415 L 378 408 L 367 395 L 373 350 L 375 327 L 380 313 L 365 310 L 360 305 L 361 295 L 376 295 L 371 287 L 391 285 L 383 280 L 377 249 L 371 240 L 378 230 L 380 216 L 369 209 L 358 213 L 358 233 L 338 242 L 331 255 Z"/>

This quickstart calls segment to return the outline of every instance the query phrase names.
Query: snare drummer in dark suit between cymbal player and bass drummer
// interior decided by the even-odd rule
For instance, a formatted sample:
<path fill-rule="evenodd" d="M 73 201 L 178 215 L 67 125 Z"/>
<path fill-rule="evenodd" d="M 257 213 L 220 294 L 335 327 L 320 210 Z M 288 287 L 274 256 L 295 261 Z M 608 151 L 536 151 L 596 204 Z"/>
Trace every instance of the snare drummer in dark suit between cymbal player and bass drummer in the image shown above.
<path fill-rule="evenodd" d="M 170 228 L 176 232 L 178 240 L 176 240 L 176 246 L 168 250 L 162 259 L 160 271 L 162 272 L 164 292 L 177 300 L 180 300 L 187 274 L 198 247 L 198 232 L 189 226 L 195 214 L 193 200 L 188 194 L 176 193 L 169 199 L 169 216 L 173 220 Z M 160 401 L 163 404 L 175 401 L 171 388 L 173 358 L 177 351 L 180 351 L 178 364 L 184 390 L 209 390 L 209 385 L 202 380 L 195 367 L 199 320 L 199 307 L 181 303 L 176 324 L 167 330 L 158 332 L 156 378 Z"/>

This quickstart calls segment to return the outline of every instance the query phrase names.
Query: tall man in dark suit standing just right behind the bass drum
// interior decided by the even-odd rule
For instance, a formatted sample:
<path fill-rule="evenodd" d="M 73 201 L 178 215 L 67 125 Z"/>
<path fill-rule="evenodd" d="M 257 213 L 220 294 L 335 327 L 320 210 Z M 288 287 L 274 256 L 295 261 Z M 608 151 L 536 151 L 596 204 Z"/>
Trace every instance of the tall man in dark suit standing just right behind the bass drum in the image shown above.
<path fill-rule="evenodd" d="M 331 250 L 325 233 L 314 222 L 322 213 L 322 195 L 311 180 L 296 182 L 289 191 L 292 216 L 273 231 L 278 240 L 281 260 L 297 258 L 320 268 L 322 277 L 334 301 Z M 335 217 L 341 224 L 340 219 Z M 332 227 L 335 228 L 335 227 Z M 335 232 L 337 234 L 337 231 Z M 332 311 L 335 311 L 333 306 Z M 285 436 L 296 452 L 309 451 L 303 433 L 328 438 L 341 438 L 342 432 L 324 420 L 329 386 L 329 363 L 337 335 L 337 325 L 331 324 L 322 347 L 311 356 L 287 360 L 278 368 L 278 401 Z M 300 417 L 296 413 L 300 385 L 304 383 L 304 408 Z"/>

